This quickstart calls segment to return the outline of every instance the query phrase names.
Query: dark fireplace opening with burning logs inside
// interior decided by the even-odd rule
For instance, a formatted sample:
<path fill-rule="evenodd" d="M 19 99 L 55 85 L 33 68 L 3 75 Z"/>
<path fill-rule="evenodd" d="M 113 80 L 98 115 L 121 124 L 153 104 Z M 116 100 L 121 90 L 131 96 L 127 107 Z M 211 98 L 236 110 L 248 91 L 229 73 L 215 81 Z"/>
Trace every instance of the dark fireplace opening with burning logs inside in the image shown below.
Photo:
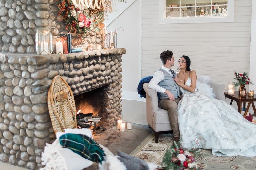
<path fill-rule="evenodd" d="M 78 126 L 80 124 L 80 126 L 82 125 L 81 127 L 93 129 L 94 133 L 101 133 L 109 126 L 106 122 L 109 101 L 107 87 L 108 85 L 105 85 L 74 96 Z"/>

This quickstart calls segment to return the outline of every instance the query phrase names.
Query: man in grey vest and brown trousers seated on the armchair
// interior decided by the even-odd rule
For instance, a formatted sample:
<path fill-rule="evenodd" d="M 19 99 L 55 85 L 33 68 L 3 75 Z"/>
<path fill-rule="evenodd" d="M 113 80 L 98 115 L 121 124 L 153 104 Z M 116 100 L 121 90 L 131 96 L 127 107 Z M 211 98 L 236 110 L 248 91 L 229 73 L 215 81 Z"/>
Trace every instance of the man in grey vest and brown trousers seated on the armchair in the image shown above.
<path fill-rule="evenodd" d="M 158 106 L 164 110 L 168 110 L 174 140 L 178 142 L 180 139 L 180 131 L 177 107 L 178 102 L 180 101 L 180 92 L 178 85 L 174 81 L 174 77 L 177 77 L 177 74 L 171 69 L 171 67 L 174 66 L 175 60 L 172 51 L 169 50 L 163 51 L 160 54 L 160 59 L 163 66 L 153 74 L 153 78 L 149 82 L 148 88 L 161 93 Z"/>

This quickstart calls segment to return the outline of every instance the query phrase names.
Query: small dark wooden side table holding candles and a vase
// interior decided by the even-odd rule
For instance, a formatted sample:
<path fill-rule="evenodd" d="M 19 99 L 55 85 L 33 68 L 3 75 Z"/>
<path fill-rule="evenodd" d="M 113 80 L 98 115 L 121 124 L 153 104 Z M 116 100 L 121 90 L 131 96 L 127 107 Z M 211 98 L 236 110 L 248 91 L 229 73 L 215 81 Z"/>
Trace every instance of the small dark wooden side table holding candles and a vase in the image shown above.
<path fill-rule="evenodd" d="M 248 92 L 247 92 L 248 93 Z M 247 112 L 249 110 L 250 105 L 252 104 L 252 108 L 254 113 L 256 113 L 256 109 L 254 106 L 254 101 L 256 101 L 256 95 L 254 94 L 253 97 L 249 97 L 248 94 L 246 97 L 241 97 L 240 94 L 238 92 L 235 92 L 234 95 L 230 95 L 228 94 L 228 92 L 224 92 L 224 95 L 226 98 L 231 99 L 230 105 L 232 104 L 233 100 L 236 101 L 237 106 L 238 106 L 238 112 L 241 113 L 242 111 L 242 103 L 243 103 L 243 107 L 245 107 L 245 103 L 248 102 L 248 105 L 246 107 L 245 113 L 244 113 L 244 117 L 246 117 Z"/>

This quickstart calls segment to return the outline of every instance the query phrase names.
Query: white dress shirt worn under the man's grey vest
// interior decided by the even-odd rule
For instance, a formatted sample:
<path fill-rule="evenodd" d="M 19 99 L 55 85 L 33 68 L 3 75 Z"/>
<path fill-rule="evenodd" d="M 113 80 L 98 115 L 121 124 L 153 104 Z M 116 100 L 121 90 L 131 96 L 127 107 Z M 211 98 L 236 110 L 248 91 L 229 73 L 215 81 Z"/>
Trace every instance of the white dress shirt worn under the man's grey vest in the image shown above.
<path fill-rule="evenodd" d="M 169 68 L 162 66 L 162 69 L 164 69 L 165 71 L 170 73 L 170 75 L 172 75 L 172 73 L 169 71 L 170 70 Z M 164 93 L 166 89 L 158 85 L 158 83 L 163 79 L 164 79 L 164 73 L 162 71 L 156 71 L 153 74 L 153 78 L 150 80 L 148 84 L 148 88 L 154 89 L 156 92 Z"/>

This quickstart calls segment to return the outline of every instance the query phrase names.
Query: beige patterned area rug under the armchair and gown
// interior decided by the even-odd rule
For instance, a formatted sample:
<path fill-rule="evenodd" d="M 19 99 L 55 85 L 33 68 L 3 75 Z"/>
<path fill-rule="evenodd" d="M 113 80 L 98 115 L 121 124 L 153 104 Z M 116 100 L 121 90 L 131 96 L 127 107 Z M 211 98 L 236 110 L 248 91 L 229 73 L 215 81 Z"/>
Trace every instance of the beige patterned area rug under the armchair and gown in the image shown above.
<path fill-rule="evenodd" d="M 158 143 L 155 143 L 154 133 L 151 133 L 130 155 L 134 155 L 146 162 L 161 165 L 166 149 L 172 144 L 172 134 L 160 135 Z M 214 156 L 210 149 L 201 149 L 200 152 L 202 153 L 202 157 L 196 160 L 197 166 L 205 170 L 256 170 L 256 157 Z"/>

